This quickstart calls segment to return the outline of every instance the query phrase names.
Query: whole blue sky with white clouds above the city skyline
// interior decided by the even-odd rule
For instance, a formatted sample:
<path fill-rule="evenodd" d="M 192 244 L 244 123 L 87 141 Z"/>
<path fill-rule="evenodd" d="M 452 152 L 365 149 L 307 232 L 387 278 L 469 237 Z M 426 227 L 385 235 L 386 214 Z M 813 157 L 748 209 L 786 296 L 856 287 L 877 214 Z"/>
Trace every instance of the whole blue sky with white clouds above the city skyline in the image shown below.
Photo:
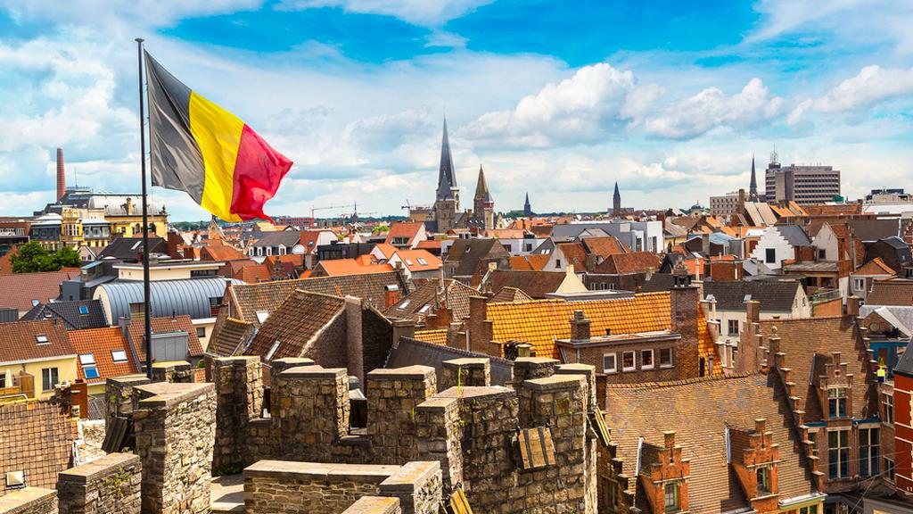
<path fill-rule="evenodd" d="M 267 211 L 433 199 L 441 119 L 496 209 L 687 207 L 783 163 L 913 187 L 913 5 L 0 0 L 0 215 L 71 182 L 139 188 L 133 37 L 296 165 Z M 175 220 L 204 219 L 154 189 Z"/>

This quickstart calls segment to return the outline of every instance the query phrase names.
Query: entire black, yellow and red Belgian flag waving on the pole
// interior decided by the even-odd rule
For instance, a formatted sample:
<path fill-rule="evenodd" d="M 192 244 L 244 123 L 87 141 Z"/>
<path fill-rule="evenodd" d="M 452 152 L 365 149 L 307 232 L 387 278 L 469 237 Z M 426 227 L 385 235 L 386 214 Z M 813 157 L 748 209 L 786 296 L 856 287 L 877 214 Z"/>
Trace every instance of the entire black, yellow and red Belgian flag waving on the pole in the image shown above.
<path fill-rule="evenodd" d="M 185 191 L 226 221 L 264 219 L 292 162 L 146 52 L 152 186 Z"/>

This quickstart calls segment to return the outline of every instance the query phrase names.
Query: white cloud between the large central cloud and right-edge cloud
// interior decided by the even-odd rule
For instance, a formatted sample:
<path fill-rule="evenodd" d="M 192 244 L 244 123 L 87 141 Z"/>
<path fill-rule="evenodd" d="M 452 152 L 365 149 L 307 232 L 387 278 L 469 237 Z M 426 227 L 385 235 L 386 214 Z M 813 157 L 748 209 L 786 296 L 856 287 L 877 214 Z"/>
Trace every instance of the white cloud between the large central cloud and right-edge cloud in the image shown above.
<path fill-rule="evenodd" d="M 719 126 L 751 129 L 773 118 L 781 107 L 782 98 L 771 95 L 761 79 L 754 78 L 734 95 L 708 88 L 676 102 L 661 116 L 647 119 L 645 128 L 652 134 L 676 139 L 697 137 Z"/>

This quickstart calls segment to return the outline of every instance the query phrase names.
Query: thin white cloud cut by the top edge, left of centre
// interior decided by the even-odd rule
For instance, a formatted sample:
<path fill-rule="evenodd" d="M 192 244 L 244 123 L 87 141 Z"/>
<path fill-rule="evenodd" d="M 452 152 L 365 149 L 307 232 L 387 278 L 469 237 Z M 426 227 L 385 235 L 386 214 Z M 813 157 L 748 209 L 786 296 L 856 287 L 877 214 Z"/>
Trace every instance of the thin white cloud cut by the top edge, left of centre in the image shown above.
<path fill-rule="evenodd" d="M 282 0 L 279 10 L 341 7 L 346 12 L 394 16 L 414 25 L 437 27 L 493 0 Z"/>

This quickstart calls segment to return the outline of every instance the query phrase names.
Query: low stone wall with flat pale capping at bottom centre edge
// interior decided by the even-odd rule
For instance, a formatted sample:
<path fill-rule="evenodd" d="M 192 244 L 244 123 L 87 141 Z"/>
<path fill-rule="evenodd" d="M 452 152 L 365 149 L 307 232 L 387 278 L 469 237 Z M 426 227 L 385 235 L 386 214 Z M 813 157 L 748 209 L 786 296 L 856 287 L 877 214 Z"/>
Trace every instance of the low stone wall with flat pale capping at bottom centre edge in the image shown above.
<path fill-rule="evenodd" d="M 247 514 L 338 514 L 363 497 L 397 498 L 362 503 L 378 512 L 436 514 L 441 471 L 436 462 L 406 466 L 320 464 L 262 460 L 244 470 Z M 356 510 L 358 511 L 358 510 Z M 371 512 L 366 510 L 365 512 Z"/>

